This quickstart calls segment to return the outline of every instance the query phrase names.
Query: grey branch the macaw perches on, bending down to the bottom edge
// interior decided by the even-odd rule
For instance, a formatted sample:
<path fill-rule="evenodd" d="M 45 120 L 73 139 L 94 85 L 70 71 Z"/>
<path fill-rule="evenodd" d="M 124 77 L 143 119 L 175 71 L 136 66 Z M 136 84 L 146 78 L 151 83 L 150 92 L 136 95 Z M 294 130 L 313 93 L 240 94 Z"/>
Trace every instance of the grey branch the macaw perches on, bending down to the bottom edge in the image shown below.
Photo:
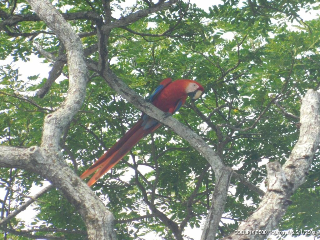
<path fill-rule="evenodd" d="M 219 219 L 215 222 L 208 222 L 206 226 L 209 228 L 208 231 L 204 235 L 204 239 L 209 239 L 207 236 L 214 236 L 215 231 L 218 228 L 220 218 L 222 216 L 224 206 L 227 199 L 228 194 L 228 186 L 230 177 L 232 174 L 232 169 L 226 167 L 220 157 L 214 152 L 212 148 L 208 146 L 208 144 L 195 132 L 190 130 L 187 126 L 181 124 L 179 121 L 172 117 L 167 117 L 164 113 L 153 106 L 152 104 L 146 102 L 141 97 L 139 97 L 135 92 L 133 92 L 128 86 L 124 84 L 124 82 L 119 79 L 116 75 L 112 73 L 110 69 L 106 69 L 102 76 L 105 78 L 107 83 L 116 90 L 121 96 L 123 96 L 126 100 L 132 103 L 137 108 L 140 108 L 143 112 L 148 114 L 149 116 L 155 118 L 162 124 L 170 127 L 174 132 L 180 135 L 183 139 L 187 140 L 190 145 L 195 148 L 199 153 L 204 156 L 204 158 L 211 165 L 216 178 L 216 187 L 213 193 L 213 201 L 215 204 L 211 204 L 210 212 L 208 219 L 211 220 L 210 216 L 214 216 L 214 219 Z M 208 221 L 209 221 L 208 220 Z M 210 234 L 208 233 L 210 232 Z"/>

